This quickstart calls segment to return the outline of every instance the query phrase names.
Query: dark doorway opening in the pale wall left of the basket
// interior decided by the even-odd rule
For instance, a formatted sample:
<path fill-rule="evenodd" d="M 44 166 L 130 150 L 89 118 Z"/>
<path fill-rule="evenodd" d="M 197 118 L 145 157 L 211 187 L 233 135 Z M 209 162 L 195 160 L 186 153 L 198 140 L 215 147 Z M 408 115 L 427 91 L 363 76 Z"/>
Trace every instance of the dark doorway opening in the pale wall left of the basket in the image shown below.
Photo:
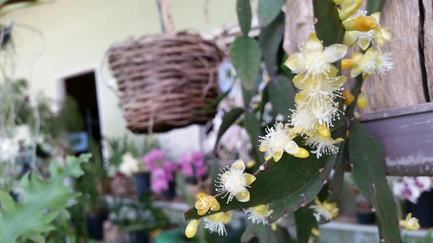
<path fill-rule="evenodd" d="M 82 75 L 64 79 L 66 95 L 73 97 L 77 102 L 84 122 L 85 135 L 97 144 L 101 142 L 100 117 L 98 110 L 98 97 L 96 93 L 95 72 L 86 72 Z M 75 153 L 89 152 L 81 148 Z"/>

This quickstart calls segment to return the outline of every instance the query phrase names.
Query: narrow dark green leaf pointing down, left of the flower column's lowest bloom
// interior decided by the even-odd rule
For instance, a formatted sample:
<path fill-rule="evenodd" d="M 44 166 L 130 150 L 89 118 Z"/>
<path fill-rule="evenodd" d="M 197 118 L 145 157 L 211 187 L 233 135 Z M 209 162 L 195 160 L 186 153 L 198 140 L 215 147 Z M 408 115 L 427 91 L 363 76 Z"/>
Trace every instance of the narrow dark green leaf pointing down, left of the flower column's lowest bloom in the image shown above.
<path fill-rule="evenodd" d="M 264 157 L 259 152 L 259 136 L 262 136 L 260 128 L 260 122 L 257 117 L 255 117 L 254 114 L 250 112 L 245 113 L 245 119 L 243 120 L 243 126 L 245 127 L 245 130 L 247 131 L 248 135 L 250 136 L 251 141 L 251 152 L 252 152 L 252 158 L 257 162 L 257 168 L 259 164 L 263 164 Z"/>

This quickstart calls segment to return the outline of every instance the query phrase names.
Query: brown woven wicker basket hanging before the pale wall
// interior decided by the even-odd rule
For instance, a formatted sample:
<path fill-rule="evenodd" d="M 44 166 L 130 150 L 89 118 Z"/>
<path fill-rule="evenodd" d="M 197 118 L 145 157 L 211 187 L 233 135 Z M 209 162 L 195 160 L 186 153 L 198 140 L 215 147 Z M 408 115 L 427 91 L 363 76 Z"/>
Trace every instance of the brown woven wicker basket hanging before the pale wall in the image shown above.
<path fill-rule="evenodd" d="M 127 127 L 160 133 L 208 122 L 216 109 L 203 108 L 219 95 L 224 57 L 215 43 L 187 32 L 145 35 L 110 48 Z"/>

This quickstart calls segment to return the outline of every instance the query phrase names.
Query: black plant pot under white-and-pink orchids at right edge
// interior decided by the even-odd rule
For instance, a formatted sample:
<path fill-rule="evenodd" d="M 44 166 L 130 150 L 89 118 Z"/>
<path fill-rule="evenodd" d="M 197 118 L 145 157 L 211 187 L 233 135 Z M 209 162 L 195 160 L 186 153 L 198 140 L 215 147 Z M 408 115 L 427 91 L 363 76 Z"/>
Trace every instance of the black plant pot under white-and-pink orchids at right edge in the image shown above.
<path fill-rule="evenodd" d="M 433 191 L 421 193 L 417 204 L 407 200 L 405 204 L 407 213 L 412 213 L 412 217 L 416 217 L 419 220 L 421 227 L 433 227 Z"/>

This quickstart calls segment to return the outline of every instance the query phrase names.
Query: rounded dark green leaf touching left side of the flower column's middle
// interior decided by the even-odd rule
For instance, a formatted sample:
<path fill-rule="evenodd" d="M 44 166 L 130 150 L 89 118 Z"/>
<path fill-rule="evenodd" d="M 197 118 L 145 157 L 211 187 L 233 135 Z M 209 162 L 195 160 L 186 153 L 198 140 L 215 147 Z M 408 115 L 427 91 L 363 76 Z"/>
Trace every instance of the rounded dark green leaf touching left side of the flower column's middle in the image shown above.
<path fill-rule="evenodd" d="M 273 110 L 288 119 L 291 110 L 295 108 L 295 88 L 292 82 L 283 75 L 278 75 L 268 83 L 267 89 Z"/>

